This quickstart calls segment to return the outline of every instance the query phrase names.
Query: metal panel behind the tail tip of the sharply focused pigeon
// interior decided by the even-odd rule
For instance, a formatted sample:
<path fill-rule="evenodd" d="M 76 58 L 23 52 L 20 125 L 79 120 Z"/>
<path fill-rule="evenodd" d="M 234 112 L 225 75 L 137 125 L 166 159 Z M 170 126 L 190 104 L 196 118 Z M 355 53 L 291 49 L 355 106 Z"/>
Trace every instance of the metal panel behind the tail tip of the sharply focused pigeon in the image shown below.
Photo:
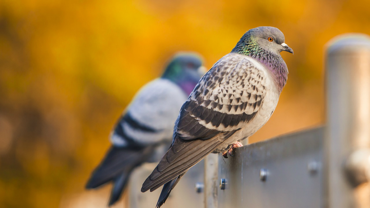
<path fill-rule="evenodd" d="M 162 187 L 153 192 L 142 193 L 142 183 L 151 174 L 158 163 L 147 163 L 134 170 L 129 184 L 129 208 L 155 207 Z M 181 178 L 176 187 L 171 191 L 166 203 L 161 208 L 189 208 L 202 207 L 203 193 L 194 191 L 196 184 L 203 184 L 204 161 L 189 169 Z"/>

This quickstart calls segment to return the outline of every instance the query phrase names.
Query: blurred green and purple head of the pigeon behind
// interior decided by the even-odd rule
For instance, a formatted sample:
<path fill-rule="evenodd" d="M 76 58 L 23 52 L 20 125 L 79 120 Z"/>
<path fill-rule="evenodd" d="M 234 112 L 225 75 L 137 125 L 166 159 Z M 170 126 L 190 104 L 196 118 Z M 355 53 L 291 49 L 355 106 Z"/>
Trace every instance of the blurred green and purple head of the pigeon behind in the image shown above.
<path fill-rule="evenodd" d="M 190 94 L 205 73 L 202 58 L 196 53 L 177 53 L 168 63 L 162 78 L 173 81 Z"/>

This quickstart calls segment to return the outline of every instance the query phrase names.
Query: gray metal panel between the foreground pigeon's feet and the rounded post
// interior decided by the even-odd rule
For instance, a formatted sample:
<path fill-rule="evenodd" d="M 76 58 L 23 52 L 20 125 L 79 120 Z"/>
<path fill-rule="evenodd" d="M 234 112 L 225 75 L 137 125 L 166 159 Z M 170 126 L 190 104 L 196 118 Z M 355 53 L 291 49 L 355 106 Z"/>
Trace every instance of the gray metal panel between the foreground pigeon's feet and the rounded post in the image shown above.
<path fill-rule="evenodd" d="M 219 156 L 219 207 L 319 208 L 322 171 L 307 171 L 307 164 L 322 160 L 323 128 L 301 131 L 236 149 L 234 157 Z M 267 170 L 260 181 L 261 169 Z"/>

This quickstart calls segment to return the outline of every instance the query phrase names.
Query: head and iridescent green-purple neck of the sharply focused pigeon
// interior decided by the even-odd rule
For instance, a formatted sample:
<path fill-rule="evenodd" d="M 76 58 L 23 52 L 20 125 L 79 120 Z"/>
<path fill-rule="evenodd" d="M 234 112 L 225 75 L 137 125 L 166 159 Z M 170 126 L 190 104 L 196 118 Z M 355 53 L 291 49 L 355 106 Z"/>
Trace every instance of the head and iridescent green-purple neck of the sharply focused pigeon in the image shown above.
<path fill-rule="evenodd" d="M 256 27 L 240 38 L 231 53 L 243 54 L 262 63 L 273 74 L 276 85 L 282 90 L 288 78 L 288 68 L 280 52 L 293 53 L 292 48 L 284 42 L 284 34 L 276 27 Z"/>

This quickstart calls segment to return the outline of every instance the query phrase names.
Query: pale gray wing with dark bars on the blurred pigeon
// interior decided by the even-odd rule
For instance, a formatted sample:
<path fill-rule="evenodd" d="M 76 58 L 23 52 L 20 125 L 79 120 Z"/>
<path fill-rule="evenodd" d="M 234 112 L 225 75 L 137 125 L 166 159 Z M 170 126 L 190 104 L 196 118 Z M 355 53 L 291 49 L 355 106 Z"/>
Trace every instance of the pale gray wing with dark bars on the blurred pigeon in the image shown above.
<path fill-rule="evenodd" d="M 111 141 L 114 146 L 171 141 L 173 125 L 187 96 L 176 84 L 159 78 L 144 86 L 124 112 Z"/>

